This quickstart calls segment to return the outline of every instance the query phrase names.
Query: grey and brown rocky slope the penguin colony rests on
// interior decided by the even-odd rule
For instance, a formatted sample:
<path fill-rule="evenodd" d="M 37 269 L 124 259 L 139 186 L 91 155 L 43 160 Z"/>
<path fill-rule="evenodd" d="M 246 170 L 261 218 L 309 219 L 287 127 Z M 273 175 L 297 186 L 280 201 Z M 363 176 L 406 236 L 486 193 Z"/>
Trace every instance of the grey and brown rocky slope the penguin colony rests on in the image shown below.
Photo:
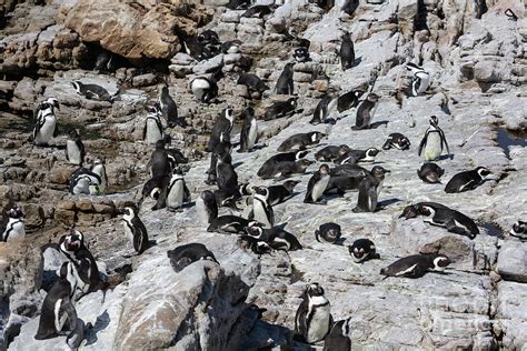
<path fill-rule="evenodd" d="M 335 320 L 351 318 L 354 348 L 372 349 L 505 349 L 527 345 L 527 243 L 509 237 L 514 222 L 527 217 L 525 82 L 527 20 L 521 1 L 360 1 L 350 17 L 340 8 L 325 12 L 307 0 L 276 1 L 264 19 L 228 10 L 228 1 L 46 1 L 8 2 L 0 32 L 0 201 L 12 200 L 26 215 L 27 238 L 0 242 L 0 325 L 14 338 L 10 350 L 68 349 L 64 337 L 37 341 L 40 305 L 40 267 L 58 268 L 40 257 L 40 247 L 57 242 L 66 228 L 76 225 L 87 237 L 99 269 L 112 289 L 82 297 L 79 318 L 91 323 L 82 349 L 132 350 L 260 350 L 277 345 L 307 349 L 292 340 L 295 313 L 307 283 L 319 282 L 331 303 Z M 272 2 L 266 1 L 265 3 Z M 284 2 L 284 3 L 282 3 Z M 517 20 L 505 10 L 511 9 Z M 222 42 L 240 40 L 238 52 L 198 61 L 181 49 L 181 38 L 206 29 Z M 342 31 L 352 33 L 356 66 L 341 70 L 337 51 Z M 142 142 L 143 107 L 157 100 L 158 86 L 167 82 L 186 128 L 168 132 L 172 146 L 191 159 L 185 179 L 192 201 L 203 189 L 209 160 L 203 144 L 213 119 L 227 107 L 237 119 L 251 103 L 245 86 L 236 84 L 240 67 L 252 60 L 250 72 L 269 87 L 252 100 L 257 118 L 277 96 L 275 83 L 291 60 L 291 34 L 310 40 L 311 61 L 295 66 L 296 113 L 260 121 L 260 147 L 233 152 L 240 182 L 274 184 L 256 172 L 277 153 L 288 137 L 321 131 L 324 146 L 354 149 L 380 147 L 389 133 L 409 138 L 408 151 L 386 150 L 376 158 L 391 173 L 380 193 L 381 209 L 354 213 L 357 192 L 331 197 L 327 205 L 306 204 L 310 174 L 296 177 L 296 195 L 275 207 L 277 223 L 285 224 L 304 249 L 258 257 L 243 249 L 236 235 L 209 233 L 195 207 L 182 212 L 151 211 L 152 200 L 140 208 L 156 244 L 132 255 L 116 209 L 138 201 L 148 180 L 147 163 L 153 150 Z M 108 74 L 96 68 L 101 52 L 117 62 Z M 421 97 L 400 93 L 409 81 L 405 69 L 415 62 L 430 73 Z M 219 101 L 198 102 L 188 84 L 195 77 L 222 69 Z M 120 100 L 101 102 L 80 97 L 71 81 L 105 87 Z M 352 131 L 355 110 L 331 117 L 336 124 L 309 123 L 318 101 L 328 91 L 369 89 L 380 96 L 374 129 Z M 32 111 L 38 101 L 56 97 L 61 134 L 51 148 L 33 147 Z M 417 148 L 437 116 L 454 158 L 444 183 L 455 173 L 487 167 L 493 179 L 476 190 L 448 194 L 444 184 L 424 183 L 416 174 L 421 164 Z M 64 157 L 67 132 L 80 130 L 87 164 L 105 158 L 109 189 L 105 195 L 71 195 L 68 181 L 76 169 Z M 233 133 L 237 140 L 237 132 Z M 316 171 L 320 162 L 308 172 Z M 366 166 L 369 168 L 370 166 Z M 421 219 L 398 215 L 410 203 L 435 201 L 473 218 L 480 234 L 470 240 L 430 227 Z M 221 213 L 230 210 L 221 209 Z M 242 213 L 248 209 L 242 208 Z M 314 232 L 325 222 L 342 227 L 344 245 L 320 243 Z M 352 262 L 346 245 L 368 238 L 379 260 Z M 176 273 L 167 250 L 202 242 L 220 267 L 200 261 Z M 445 274 L 410 280 L 379 274 L 397 258 L 417 252 L 451 258 Z M 44 255 L 47 258 L 47 255 Z M 50 263 L 51 262 L 51 263 Z M 54 263 L 57 264 L 54 264 Z M 261 319 L 251 307 L 267 309 Z M 20 328 L 20 332 L 18 329 Z M 321 347 L 321 345 L 317 345 Z"/>

